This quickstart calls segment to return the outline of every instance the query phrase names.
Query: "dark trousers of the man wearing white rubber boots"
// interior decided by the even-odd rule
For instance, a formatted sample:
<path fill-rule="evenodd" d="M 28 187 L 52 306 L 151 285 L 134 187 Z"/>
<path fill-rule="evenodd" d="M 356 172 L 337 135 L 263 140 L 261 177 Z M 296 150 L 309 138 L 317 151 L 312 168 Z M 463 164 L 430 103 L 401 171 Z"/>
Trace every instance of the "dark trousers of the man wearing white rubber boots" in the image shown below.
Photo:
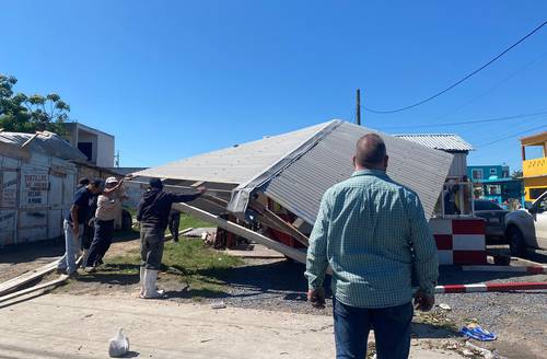
<path fill-rule="evenodd" d="M 147 223 L 141 223 L 140 257 L 142 267 L 153 270 L 161 269 L 164 240 L 165 228 L 158 228 Z"/>

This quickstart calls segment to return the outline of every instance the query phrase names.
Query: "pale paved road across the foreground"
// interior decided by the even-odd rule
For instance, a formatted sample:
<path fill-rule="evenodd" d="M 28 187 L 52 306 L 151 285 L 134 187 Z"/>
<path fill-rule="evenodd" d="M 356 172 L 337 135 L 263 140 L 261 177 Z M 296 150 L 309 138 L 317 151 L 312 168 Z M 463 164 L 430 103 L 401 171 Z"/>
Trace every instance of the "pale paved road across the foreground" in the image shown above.
<path fill-rule="evenodd" d="M 123 327 L 129 357 L 334 358 L 331 319 L 126 297 L 47 294 L 0 309 L 0 358 L 106 358 Z M 423 349 L 412 358 L 458 358 Z"/>

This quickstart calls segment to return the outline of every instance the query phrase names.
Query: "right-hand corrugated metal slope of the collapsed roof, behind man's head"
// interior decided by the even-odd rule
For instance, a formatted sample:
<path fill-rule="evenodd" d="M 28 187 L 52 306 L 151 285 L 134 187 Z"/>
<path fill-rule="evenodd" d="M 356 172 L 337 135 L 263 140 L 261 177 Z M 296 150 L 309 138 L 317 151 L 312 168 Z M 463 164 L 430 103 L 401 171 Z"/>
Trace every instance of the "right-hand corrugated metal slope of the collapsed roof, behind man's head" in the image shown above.
<path fill-rule="evenodd" d="M 356 141 L 369 132 L 375 131 L 341 123 L 261 189 L 309 223 L 314 223 L 323 194 L 351 175 Z M 418 193 L 429 218 L 452 164 L 452 155 L 380 135 L 389 155 L 388 175 Z"/>

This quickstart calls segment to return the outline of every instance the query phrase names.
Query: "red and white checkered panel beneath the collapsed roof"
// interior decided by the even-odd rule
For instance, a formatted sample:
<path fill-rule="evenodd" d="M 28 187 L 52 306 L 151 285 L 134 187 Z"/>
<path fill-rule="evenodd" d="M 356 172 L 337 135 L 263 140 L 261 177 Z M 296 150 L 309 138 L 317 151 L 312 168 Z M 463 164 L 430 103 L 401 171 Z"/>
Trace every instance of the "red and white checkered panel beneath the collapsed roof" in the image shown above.
<path fill-rule="evenodd" d="M 432 218 L 429 227 L 435 239 L 439 264 L 487 264 L 485 221 L 477 218 Z"/>

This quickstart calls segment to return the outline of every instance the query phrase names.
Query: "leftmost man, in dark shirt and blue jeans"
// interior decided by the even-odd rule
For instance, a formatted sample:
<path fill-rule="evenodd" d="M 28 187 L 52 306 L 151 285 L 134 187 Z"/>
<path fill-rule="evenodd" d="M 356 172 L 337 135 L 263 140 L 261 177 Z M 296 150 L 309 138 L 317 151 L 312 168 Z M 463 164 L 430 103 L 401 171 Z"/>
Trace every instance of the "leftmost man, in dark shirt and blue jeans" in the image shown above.
<path fill-rule="evenodd" d="M 73 275 L 77 269 L 75 257 L 80 252 L 83 227 L 90 211 L 90 199 L 101 192 L 101 180 L 93 180 L 86 186 L 79 188 L 74 194 L 74 202 L 70 212 L 65 218 L 65 255 L 59 260 L 57 268 Z"/>

